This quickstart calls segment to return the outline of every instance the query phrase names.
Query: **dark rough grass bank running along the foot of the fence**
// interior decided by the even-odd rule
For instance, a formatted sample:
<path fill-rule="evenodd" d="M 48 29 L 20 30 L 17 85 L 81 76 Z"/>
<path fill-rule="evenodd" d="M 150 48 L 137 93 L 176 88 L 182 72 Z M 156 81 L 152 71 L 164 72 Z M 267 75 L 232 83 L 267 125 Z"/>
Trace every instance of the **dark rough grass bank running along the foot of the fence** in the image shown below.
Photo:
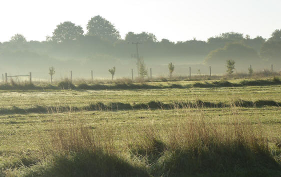
<path fill-rule="evenodd" d="M 88 85 L 86 83 L 73 85 L 71 81 L 65 80 L 58 83 L 57 86 L 35 86 L 33 84 L 2 84 L 0 90 L 42 90 L 42 89 L 86 89 L 86 90 L 116 90 L 116 89 L 165 89 L 165 88 L 212 88 L 212 87 L 241 87 L 241 86 L 262 86 L 262 85 L 279 85 L 281 80 L 278 77 L 272 79 L 257 79 L 257 80 L 241 80 L 238 83 L 231 83 L 227 80 L 219 80 L 212 82 L 195 82 L 193 84 L 133 84 L 133 83 L 119 83 L 119 84 L 94 84 Z"/>

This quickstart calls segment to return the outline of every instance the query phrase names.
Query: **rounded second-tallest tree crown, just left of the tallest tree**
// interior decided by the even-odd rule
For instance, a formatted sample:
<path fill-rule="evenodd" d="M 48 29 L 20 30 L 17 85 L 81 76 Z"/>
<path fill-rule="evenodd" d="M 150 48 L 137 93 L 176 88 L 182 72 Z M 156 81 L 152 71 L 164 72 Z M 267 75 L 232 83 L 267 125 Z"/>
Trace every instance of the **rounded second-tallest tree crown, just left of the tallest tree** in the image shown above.
<path fill-rule="evenodd" d="M 51 40 L 54 42 L 64 42 L 67 40 L 75 40 L 83 35 L 84 31 L 80 25 L 75 25 L 70 21 L 64 21 L 56 25 L 52 32 Z"/>

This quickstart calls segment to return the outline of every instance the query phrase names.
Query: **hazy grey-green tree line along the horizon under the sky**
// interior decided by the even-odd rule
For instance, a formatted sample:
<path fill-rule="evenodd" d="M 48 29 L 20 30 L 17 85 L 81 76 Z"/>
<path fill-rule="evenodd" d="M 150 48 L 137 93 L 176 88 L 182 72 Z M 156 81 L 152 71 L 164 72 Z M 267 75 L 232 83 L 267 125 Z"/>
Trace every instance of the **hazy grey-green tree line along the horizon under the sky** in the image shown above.
<path fill-rule="evenodd" d="M 146 63 L 197 62 L 219 66 L 225 65 L 226 60 L 234 60 L 238 67 L 246 68 L 251 63 L 261 66 L 264 62 L 281 63 L 280 29 L 274 30 L 268 39 L 225 32 L 209 37 L 207 41 L 193 38 L 172 42 L 164 38 L 158 40 L 149 32 L 132 31 L 122 39 L 115 26 L 100 15 L 88 20 L 86 31 L 70 21 L 61 22 L 44 41 L 26 41 L 24 35 L 15 34 L 9 41 L 0 43 L 0 58 L 10 61 L 14 58 L 24 61 L 75 58 L 101 63 L 123 62 L 135 52 L 132 42 L 141 43 L 140 57 Z"/>

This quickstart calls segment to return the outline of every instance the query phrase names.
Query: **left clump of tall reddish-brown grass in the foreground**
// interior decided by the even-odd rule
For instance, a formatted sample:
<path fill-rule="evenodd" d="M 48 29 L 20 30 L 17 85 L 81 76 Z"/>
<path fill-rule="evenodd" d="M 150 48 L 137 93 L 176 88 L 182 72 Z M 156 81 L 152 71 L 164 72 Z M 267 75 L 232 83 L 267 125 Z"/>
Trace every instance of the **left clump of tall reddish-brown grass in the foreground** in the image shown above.
<path fill-rule="evenodd" d="M 148 177 L 145 169 L 118 156 L 112 132 L 93 131 L 74 122 L 54 126 L 51 160 L 27 169 L 24 176 Z"/>

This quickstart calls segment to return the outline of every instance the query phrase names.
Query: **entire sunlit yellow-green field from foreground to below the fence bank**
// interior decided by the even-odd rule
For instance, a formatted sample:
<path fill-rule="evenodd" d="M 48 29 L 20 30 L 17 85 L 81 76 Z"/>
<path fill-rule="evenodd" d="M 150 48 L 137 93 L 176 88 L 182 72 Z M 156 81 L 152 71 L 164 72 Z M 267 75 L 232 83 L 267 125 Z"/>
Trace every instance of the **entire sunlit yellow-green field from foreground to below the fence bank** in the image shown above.
<path fill-rule="evenodd" d="M 235 100 L 280 103 L 281 85 L 1 90 L 0 176 L 234 177 L 260 174 L 277 177 L 281 174 L 279 106 L 143 107 L 102 111 L 53 110 L 49 113 L 17 112 L 14 109 L 28 110 L 37 106 L 83 108 L 98 102 L 135 105 L 160 101 L 173 104 L 196 100 L 229 105 Z M 9 109 L 14 111 L 1 112 Z M 89 170 L 92 167 L 96 171 Z"/>

